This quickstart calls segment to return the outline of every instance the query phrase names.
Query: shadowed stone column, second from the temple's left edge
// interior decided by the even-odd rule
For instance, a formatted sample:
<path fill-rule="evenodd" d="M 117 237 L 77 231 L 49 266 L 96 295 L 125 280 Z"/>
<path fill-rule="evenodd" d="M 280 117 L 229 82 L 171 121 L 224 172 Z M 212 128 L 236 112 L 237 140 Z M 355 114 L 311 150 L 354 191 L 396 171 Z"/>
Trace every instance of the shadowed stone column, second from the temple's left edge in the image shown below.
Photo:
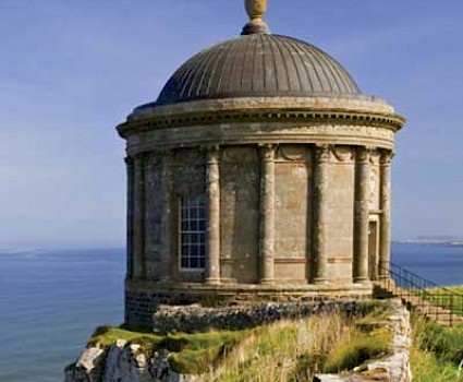
<path fill-rule="evenodd" d="M 145 157 L 134 163 L 133 276 L 145 277 Z"/>

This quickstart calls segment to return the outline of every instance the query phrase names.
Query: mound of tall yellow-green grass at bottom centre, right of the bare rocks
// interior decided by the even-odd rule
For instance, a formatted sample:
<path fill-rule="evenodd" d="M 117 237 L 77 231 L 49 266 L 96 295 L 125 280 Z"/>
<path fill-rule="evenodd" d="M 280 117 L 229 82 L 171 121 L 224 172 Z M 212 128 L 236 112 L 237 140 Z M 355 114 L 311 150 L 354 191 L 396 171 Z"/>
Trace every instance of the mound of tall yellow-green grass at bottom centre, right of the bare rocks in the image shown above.
<path fill-rule="evenodd" d="M 391 331 L 383 322 L 373 324 L 376 313 L 356 323 L 333 312 L 260 327 L 235 346 L 206 381 L 300 382 L 312 381 L 316 372 L 351 370 L 389 351 Z"/>

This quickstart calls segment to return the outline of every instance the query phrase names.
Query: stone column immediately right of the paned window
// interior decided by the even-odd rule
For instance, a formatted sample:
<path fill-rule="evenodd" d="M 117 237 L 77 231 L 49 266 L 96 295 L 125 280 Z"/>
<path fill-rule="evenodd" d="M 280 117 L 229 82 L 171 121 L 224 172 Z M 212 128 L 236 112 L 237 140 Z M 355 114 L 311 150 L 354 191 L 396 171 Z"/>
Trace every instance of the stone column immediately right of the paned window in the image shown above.
<path fill-rule="evenodd" d="M 220 172 L 219 147 L 206 152 L 206 284 L 220 284 Z"/>

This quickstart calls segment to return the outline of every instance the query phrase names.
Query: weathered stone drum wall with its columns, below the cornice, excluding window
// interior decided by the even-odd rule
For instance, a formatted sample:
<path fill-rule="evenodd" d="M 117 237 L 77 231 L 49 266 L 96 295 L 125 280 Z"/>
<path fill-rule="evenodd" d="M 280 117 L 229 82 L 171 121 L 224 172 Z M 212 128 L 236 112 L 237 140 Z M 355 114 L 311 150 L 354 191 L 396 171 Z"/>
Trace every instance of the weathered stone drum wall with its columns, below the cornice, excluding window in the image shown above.
<path fill-rule="evenodd" d="M 232 294 L 226 286 L 230 285 L 252 286 L 259 300 L 270 297 L 265 289 L 269 284 L 285 288 L 284 295 L 269 299 L 280 301 L 298 300 L 297 294 L 287 298 L 296 285 L 316 285 L 318 297 L 325 293 L 324 285 L 346 286 L 344 295 L 354 282 L 369 285 L 379 263 L 389 261 L 390 247 L 385 241 L 390 240 L 390 214 L 388 208 L 371 211 L 369 203 L 371 192 L 375 207 L 379 203 L 379 184 L 371 190 L 369 178 L 371 157 L 379 171 L 379 158 L 387 154 L 363 146 L 278 143 L 204 145 L 137 155 L 134 211 L 129 214 L 134 226 L 126 323 L 148 323 L 158 303 L 175 303 L 172 300 L 181 299 L 183 290 L 204 283 L 222 289 L 220 297 L 228 301 Z M 386 176 L 377 180 L 389 182 Z M 180 265 L 184 196 L 207 201 L 205 267 Z M 371 219 L 380 229 L 368 237 Z M 370 240 L 376 241 L 374 246 Z M 137 282 L 144 283 L 142 289 L 134 287 Z M 162 294 L 174 298 L 165 302 L 142 298 L 162 287 Z M 182 303 L 207 303 L 215 298 L 204 290 Z"/>

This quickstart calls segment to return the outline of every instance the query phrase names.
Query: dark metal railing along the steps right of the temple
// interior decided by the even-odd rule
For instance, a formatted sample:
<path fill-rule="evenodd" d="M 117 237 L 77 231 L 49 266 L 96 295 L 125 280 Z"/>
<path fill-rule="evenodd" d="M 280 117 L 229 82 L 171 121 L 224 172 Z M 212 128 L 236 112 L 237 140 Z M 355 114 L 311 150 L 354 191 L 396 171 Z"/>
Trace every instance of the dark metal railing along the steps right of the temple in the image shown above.
<path fill-rule="evenodd" d="M 379 285 L 400 297 L 418 314 L 452 326 L 463 323 L 463 294 L 418 276 L 397 264 L 381 270 Z"/>

